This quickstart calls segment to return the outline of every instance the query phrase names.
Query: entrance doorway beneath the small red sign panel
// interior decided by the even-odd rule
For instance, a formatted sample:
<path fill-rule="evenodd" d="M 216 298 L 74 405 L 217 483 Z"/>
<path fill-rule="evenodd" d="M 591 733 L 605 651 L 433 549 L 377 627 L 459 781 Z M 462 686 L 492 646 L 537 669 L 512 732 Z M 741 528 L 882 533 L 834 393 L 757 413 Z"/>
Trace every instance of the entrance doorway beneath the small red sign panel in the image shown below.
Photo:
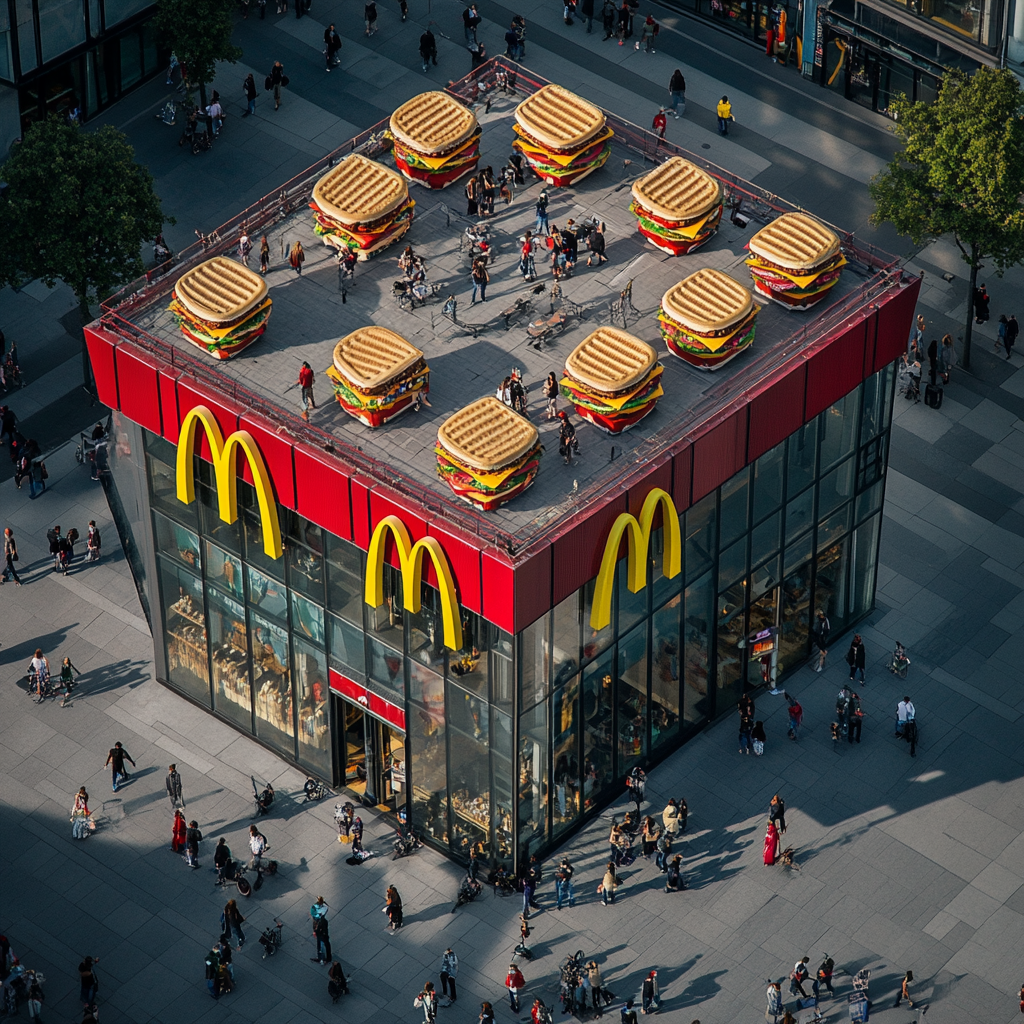
<path fill-rule="evenodd" d="M 344 722 L 338 744 L 338 775 L 366 802 L 397 810 L 404 800 L 406 734 L 352 700 L 334 694 L 335 715 Z"/>

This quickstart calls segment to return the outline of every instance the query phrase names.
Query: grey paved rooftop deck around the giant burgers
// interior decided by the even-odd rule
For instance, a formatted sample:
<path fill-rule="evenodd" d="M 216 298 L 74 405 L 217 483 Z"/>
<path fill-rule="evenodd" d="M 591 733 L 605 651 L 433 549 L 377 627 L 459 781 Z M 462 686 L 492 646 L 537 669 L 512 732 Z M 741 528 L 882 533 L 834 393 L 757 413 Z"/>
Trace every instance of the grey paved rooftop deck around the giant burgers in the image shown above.
<path fill-rule="evenodd" d="M 493 81 L 498 62 L 493 60 L 489 68 L 481 69 L 477 82 Z M 515 105 L 524 92 L 542 84 L 519 76 L 516 95 L 489 92 L 488 113 L 482 102 L 477 104 L 483 129 L 480 167 L 490 165 L 497 172 L 506 163 L 511 152 Z M 453 91 L 472 98 L 475 86 L 471 79 L 464 80 Z M 717 173 L 725 184 L 727 203 L 741 203 L 742 213 L 751 220 L 745 228 L 737 226 L 730 221 L 727 208 L 718 234 L 705 248 L 678 258 L 662 253 L 636 229 L 636 220 L 628 209 L 630 184 L 679 151 L 669 145 L 658 147 L 649 132 L 635 126 L 610 117 L 608 122 L 615 130 L 608 163 L 578 185 L 549 188 L 549 217 L 552 224 L 559 226 L 569 217 L 580 222 L 590 215 L 604 221 L 609 262 L 600 268 L 588 268 L 586 253 L 582 253 L 574 274 L 561 286 L 562 295 L 569 300 L 566 311 L 582 307 L 582 315 L 570 312 L 564 333 L 545 342 L 541 351 L 530 347 L 525 328 L 528 319 L 547 314 L 551 308 L 550 268 L 539 256 L 539 281 L 534 285 L 524 284 L 518 272 L 519 239 L 534 226 L 534 206 L 541 189 L 537 179 L 529 176 L 527 187 L 516 191 L 512 204 L 497 207 L 495 216 L 488 218 L 494 261 L 489 265 L 486 302 L 470 304 L 469 256 L 460 247 L 470 223 L 464 216 L 462 181 L 443 191 L 411 185 L 417 203 L 412 229 L 402 243 L 382 256 L 359 263 L 354 281 L 342 291 L 334 251 L 313 232 L 306 204 L 329 161 L 336 162 L 352 148 L 361 148 L 391 165 L 380 140 L 385 125 L 351 140 L 289 182 L 281 197 L 268 197 L 233 218 L 219 229 L 220 240 L 205 255 L 195 247 L 194 253 L 182 254 L 170 273 L 152 284 L 137 283 L 134 292 L 128 289 L 114 296 L 104 306 L 102 319 L 109 329 L 130 337 L 162 360 L 172 361 L 181 372 L 196 375 L 207 386 L 213 385 L 244 407 L 270 417 L 296 438 L 319 449 L 333 449 L 353 470 L 386 483 L 428 510 L 442 511 L 472 534 L 510 551 L 521 550 L 598 499 L 613 482 L 678 445 L 702 420 L 767 375 L 778 372 L 785 359 L 798 356 L 808 344 L 847 322 L 867 303 L 879 301 L 887 290 L 897 287 L 899 278 L 893 257 L 861 246 L 837 228 L 849 265 L 821 308 L 793 312 L 774 303 L 761 303 L 757 339 L 750 349 L 715 373 L 688 366 L 670 354 L 660 339 L 656 313 L 662 295 L 702 266 L 716 267 L 750 288 L 751 278 L 743 264 L 746 241 L 778 212 L 795 208 L 697 156 L 683 153 Z M 185 341 L 167 305 L 174 281 L 196 261 L 216 253 L 233 254 L 238 227 L 243 222 L 254 243 L 252 265 L 257 265 L 259 236 L 265 233 L 270 243 L 273 262 L 267 284 L 273 313 L 262 338 L 233 359 L 218 361 Z M 300 241 L 306 251 L 301 276 L 288 266 L 285 256 L 295 241 Z M 392 297 L 392 282 L 400 276 L 395 260 L 407 242 L 426 258 L 428 282 L 441 285 L 436 299 L 414 310 L 399 308 Z M 630 282 L 632 304 L 616 310 L 613 304 Z M 538 286 L 539 294 L 534 294 Z M 450 294 L 459 300 L 460 321 L 485 325 L 486 330 L 474 337 L 443 316 L 442 303 Z M 519 296 L 532 301 L 532 311 L 506 330 L 501 312 Z M 559 299 L 554 302 L 557 307 Z M 377 430 L 341 411 L 334 400 L 331 382 L 324 376 L 332 364 L 336 341 L 371 323 L 390 328 L 421 348 L 431 371 L 431 408 L 407 412 Z M 577 421 L 581 457 L 577 465 L 567 467 L 558 459 L 556 425 L 544 420 L 541 386 L 549 372 L 561 375 L 565 356 L 580 341 L 597 326 L 609 323 L 626 327 L 655 347 L 665 366 L 665 395 L 651 415 L 615 437 Z M 318 408 L 308 425 L 299 418 L 298 387 L 293 385 L 303 359 L 316 373 Z M 523 372 L 529 388 L 529 414 L 547 452 L 532 487 L 498 512 L 485 515 L 456 499 L 437 478 L 433 446 L 443 420 L 481 395 L 493 394 L 513 367 Z"/>

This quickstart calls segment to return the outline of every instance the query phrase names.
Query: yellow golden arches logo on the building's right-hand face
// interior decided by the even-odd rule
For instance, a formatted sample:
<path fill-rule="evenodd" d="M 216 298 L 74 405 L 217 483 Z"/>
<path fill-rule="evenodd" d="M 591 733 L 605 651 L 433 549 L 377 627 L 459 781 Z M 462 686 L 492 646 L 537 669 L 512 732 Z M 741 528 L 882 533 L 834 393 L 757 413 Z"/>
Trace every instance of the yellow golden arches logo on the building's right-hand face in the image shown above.
<path fill-rule="evenodd" d="M 604 545 L 601 571 L 597 573 L 594 587 L 594 606 L 590 612 L 592 629 L 603 630 L 611 622 L 611 588 L 615 582 L 615 566 L 618 564 L 618 546 L 623 534 L 629 540 L 629 561 L 627 563 L 627 585 L 631 593 L 647 586 L 647 553 L 650 549 L 650 529 L 654 513 L 662 506 L 665 525 L 665 550 L 662 555 L 662 571 L 672 580 L 682 569 L 682 538 L 679 530 L 679 513 L 676 504 L 667 490 L 654 487 L 644 499 L 640 510 L 640 520 L 629 512 L 623 512 L 611 524 L 608 540 Z"/>

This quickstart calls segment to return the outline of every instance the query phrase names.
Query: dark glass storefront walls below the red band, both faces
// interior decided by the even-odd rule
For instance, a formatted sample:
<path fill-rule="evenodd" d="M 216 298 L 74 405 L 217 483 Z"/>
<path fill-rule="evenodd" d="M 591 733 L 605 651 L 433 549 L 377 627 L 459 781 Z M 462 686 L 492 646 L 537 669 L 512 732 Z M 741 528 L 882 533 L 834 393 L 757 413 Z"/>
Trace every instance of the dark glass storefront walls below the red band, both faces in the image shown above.
<path fill-rule="evenodd" d="M 463 609 L 458 652 L 433 588 L 414 614 L 385 565 L 368 606 L 365 553 L 284 508 L 285 554 L 268 558 L 253 489 L 239 481 L 224 523 L 197 458 L 182 504 L 176 450 L 141 431 L 158 677 L 290 762 L 406 807 L 431 845 L 522 863 L 634 765 L 796 670 L 815 608 L 836 633 L 870 609 L 893 387 L 887 368 L 683 513 L 674 579 L 655 530 L 647 585 L 631 593 L 618 563 L 604 629 L 591 582 L 517 636 Z"/>

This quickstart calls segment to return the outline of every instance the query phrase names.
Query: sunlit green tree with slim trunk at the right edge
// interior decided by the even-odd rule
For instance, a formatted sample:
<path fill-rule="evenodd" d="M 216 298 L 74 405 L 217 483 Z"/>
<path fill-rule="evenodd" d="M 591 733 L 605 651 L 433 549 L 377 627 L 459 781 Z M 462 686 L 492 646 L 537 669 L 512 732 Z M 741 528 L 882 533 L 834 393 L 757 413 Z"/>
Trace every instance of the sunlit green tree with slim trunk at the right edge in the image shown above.
<path fill-rule="evenodd" d="M 871 222 L 891 223 L 914 245 L 952 237 L 971 268 L 964 366 L 971 366 L 972 300 L 978 271 L 996 273 L 1024 259 L 1024 121 L 1020 83 L 982 66 L 970 77 L 949 71 L 934 103 L 894 104 L 903 142 L 869 185 Z"/>

